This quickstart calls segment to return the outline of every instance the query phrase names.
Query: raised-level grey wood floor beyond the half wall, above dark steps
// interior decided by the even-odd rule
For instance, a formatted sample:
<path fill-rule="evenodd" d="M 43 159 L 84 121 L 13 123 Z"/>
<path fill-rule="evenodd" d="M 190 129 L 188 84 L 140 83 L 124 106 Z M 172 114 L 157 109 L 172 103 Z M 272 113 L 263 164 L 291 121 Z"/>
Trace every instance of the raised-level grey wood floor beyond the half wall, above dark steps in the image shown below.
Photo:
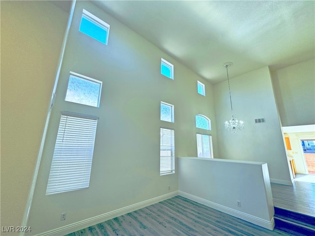
<path fill-rule="evenodd" d="M 275 207 L 315 217 L 315 183 L 294 181 L 293 186 L 271 183 Z"/>

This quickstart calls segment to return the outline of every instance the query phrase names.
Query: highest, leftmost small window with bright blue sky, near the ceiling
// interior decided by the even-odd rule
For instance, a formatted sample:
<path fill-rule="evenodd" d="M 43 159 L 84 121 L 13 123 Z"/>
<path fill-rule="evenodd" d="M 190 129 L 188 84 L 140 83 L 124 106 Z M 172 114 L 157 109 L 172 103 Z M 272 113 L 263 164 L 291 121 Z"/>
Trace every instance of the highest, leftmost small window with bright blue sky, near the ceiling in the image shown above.
<path fill-rule="evenodd" d="M 80 31 L 107 45 L 109 25 L 83 9 Z"/>

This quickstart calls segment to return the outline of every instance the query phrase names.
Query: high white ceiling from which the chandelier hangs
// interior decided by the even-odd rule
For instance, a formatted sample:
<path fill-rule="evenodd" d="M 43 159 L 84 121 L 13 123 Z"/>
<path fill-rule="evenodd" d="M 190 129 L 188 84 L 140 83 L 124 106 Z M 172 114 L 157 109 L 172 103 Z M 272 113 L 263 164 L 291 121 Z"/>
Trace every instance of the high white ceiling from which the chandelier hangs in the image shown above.
<path fill-rule="evenodd" d="M 314 0 L 93 2 L 213 84 L 315 57 Z"/>

